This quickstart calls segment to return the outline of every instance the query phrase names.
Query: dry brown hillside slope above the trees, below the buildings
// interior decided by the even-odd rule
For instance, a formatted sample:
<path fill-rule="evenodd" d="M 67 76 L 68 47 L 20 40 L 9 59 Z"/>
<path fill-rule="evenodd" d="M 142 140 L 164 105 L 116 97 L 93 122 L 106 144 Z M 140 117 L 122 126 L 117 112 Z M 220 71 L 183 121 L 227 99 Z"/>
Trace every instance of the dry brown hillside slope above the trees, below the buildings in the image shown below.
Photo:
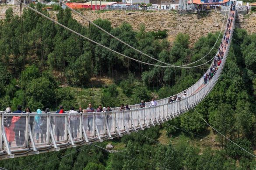
<path fill-rule="evenodd" d="M 19 15 L 19 7 L 12 6 L 14 14 Z M 0 6 L 0 19 L 4 19 L 7 6 Z M 56 11 L 49 12 L 56 19 Z M 123 22 L 132 25 L 135 31 L 140 29 L 140 24 L 145 25 L 146 31 L 168 30 L 168 41 L 173 42 L 179 33 L 189 34 L 190 45 L 193 45 L 201 36 L 206 36 L 209 32 L 221 30 L 224 15 L 220 12 L 211 12 L 210 14 L 199 17 L 196 14 L 180 15 L 176 12 L 167 11 L 82 11 L 82 14 L 90 20 L 98 18 L 110 20 L 112 27 L 119 27 Z M 79 23 L 88 26 L 88 22 L 72 14 Z M 241 27 L 248 32 L 256 32 L 256 13 L 240 15 Z"/>

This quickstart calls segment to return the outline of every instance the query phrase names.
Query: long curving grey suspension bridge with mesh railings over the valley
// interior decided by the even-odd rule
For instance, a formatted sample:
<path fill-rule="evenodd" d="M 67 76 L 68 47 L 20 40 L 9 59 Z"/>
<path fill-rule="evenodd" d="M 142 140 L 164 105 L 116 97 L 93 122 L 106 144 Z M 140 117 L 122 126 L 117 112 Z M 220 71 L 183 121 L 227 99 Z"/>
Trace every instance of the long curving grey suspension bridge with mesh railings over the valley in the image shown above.
<path fill-rule="evenodd" d="M 18 0 L 17 0 L 18 1 Z M 57 21 L 45 16 L 39 11 L 19 2 L 20 4 L 28 7 L 30 10 L 52 20 L 55 24 L 64 27 L 65 29 L 77 34 L 81 37 L 83 35 L 71 30 L 68 27 L 63 26 Z M 119 108 L 111 108 L 112 112 L 92 112 L 92 113 L 66 113 L 58 114 L 56 112 L 48 112 L 38 114 L 32 113 L 0 113 L 0 159 L 8 159 L 19 156 L 28 156 L 32 154 L 45 153 L 50 151 L 59 151 L 60 149 L 65 149 L 69 147 L 77 147 L 81 145 L 91 144 L 93 142 L 103 141 L 107 139 L 113 139 L 115 137 L 121 137 L 125 134 L 130 134 L 132 132 L 138 132 L 139 130 L 144 130 L 161 124 L 169 119 L 173 119 L 176 116 L 181 115 L 184 112 L 193 109 L 198 105 L 214 88 L 216 85 L 221 72 L 224 68 L 225 61 L 227 60 L 228 51 L 231 46 L 232 34 L 235 27 L 235 16 L 236 16 L 236 1 L 230 1 L 228 9 L 228 17 L 226 21 L 226 27 L 224 29 L 224 34 L 221 39 L 221 44 L 216 55 L 210 60 L 212 64 L 208 68 L 206 73 L 212 71 L 212 65 L 214 63 L 214 58 L 221 55 L 221 63 L 216 66 L 217 71 L 215 71 L 214 76 L 205 83 L 204 78 L 200 78 L 194 85 L 185 89 L 186 97 L 181 100 L 169 102 L 169 98 L 160 99 L 157 101 L 158 105 L 150 107 L 150 102 L 145 103 L 146 107 L 140 108 L 140 104 L 130 105 L 130 110 L 119 111 Z M 72 10 L 72 9 L 71 9 Z M 73 10 L 74 11 L 74 10 Z M 227 11 L 226 11 L 227 12 Z M 92 22 L 91 22 L 92 23 Z M 223 22 L 224 24 L 224 22 Z M 98 26 L 97 26 L 98 27 Z M 98 27 L 103 30 L 102 28 Z M 107 32 L 106 32 L 107 33 Z M 109 34 L 109 33 L 108 33 Z M 112 36 L 110 34 L 110 36 Z M 114 37 L 114 36 L 112 36 Z M 106 48 L 114 53 L 120 54 L 113 51 L 110 48 L 103 46 L 87 37 L 84 37 L 88 41 L 100 45 L 102 48 Z M 116 38 L 116 37 L 114 37 Z M 121 40 L 120 40 L 121 41 Z M 216 41 L 217 42 L 217 41 Z M 123 42 L 124 43 L 124 42 Z M 126 44 L 126 43 L 125 43 Z M 129 44 L 127 46 L 131 47 Z M 137 50 L 136 48 L 133 48 Z M 138 50 L 137 50 L 138 51 Z M 140 51 L 140 54 L 144 54 Z M 124 54 L 120 54 L 125 56 Z M 145 54 L 147 55 L 147 54 Z M 148 55 L 147 55 L 148 56 Z M 148 56 L 151 57 L 151 56 Z M 130 58 L 130 57 L 128 57 Z M 130 58 L 133 59 L 133 58 Z M 135 60 L 135 59 L 133 59 Z M 206 63 L 210 62 L 207 61 Z M 138 61 L 144 63 L 142 61 Z M 204 64 L 206 64 L 204 63 Z M 145 64 L 145 63 L 144 63 Z M 146 63 L 148 64 L 148 63 Z M 166 64 L 166 63 L 163 63 Z M 168 66 L 162 67 L 180 67 L 180 68 L 190 68 L 188 65 L 175 66 L 167 64 Z M 155 65 L 160 66 L 160 65 Z M 193 66 L 192 66 L 193 67 Z M 182 96 L 182 92 L 177 94 L 177 96 Z M 23 121 L 18 121 L 12 123 L 13 126 L 7 127 L 4 125 L 4 118 L 17 118 Z M 75 118 L 77 121 L 76 129 L 71 127 L 70 117 Z M 35 119 L 40 119 L 39 131 L 40 137 L 35 136 Z M 33 121 L 31 121 L 33 120 Z M 15 126 L 14 126 L 15 125 Z M 13 128 L 13 129 L 10 129 Z M 8 132 L 7 132 L 8 131 Z M 36 132 L 36 133 L 38 133 Z M 75 132 L 75 133 L 74 133 Z M 15 136 L 15 140 L 14 140 Z M 11 139 L 12 138 L 12 139 Z"/>

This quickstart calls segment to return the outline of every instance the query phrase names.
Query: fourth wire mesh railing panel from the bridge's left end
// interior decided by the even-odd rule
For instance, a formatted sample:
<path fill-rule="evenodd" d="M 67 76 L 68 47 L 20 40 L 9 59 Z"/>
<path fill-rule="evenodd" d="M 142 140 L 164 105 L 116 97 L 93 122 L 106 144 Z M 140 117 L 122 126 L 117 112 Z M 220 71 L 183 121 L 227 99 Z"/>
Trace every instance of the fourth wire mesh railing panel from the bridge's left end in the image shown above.
<path fill-rule="evenodd" d="M 81 139 L 81 133 L 80 133 L 80 118 L 81 114 L 77 113 L 70 113 L 68 114 L 68 123 L 70 126 L 70 133 L 73 138 L 73 140 L 79 140 Z M 70 141 L 70 139 L 69 139 Z"/>

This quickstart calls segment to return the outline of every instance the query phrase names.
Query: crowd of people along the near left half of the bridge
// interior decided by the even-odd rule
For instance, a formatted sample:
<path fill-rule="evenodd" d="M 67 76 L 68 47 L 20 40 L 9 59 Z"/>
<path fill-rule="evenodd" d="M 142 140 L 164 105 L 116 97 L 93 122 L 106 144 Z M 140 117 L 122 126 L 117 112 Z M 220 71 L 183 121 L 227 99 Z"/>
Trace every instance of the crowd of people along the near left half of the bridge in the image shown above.
<path fill-rule="evenodd" d="M 157 102 L 154 100 L 154 98 L 151 101 L 151 107 L 158 105 Z M 146 107 L 143 100 L 141 100 L 140 107 L 144 108 Z M 130 110 L 129 105 L 124 106 L 122 104 L 120 106 L 119 111 L 124 110 Z M 88 107 L 86 109 L 82 109 L 79 107 L 78 111 L 75 110 L 74 106 L 70 108 L 70 111 L 68 112 L 67 122 L 70 125 L 70 131 L 73 139 L 77 138 L 77 133 L 80 133 L 80 124 L 81 124 L 81 118 L 78 116 L 78 113 L 87 113 L 85 116 L 83 116 L 83 123 L 87 125 L 85 129 L 88 132 L 92 132 L 92 124 L 93 124 L 93 112 L 112 112 L 110 109 L 110 106 L 102 107 L 102 105 L 98 105 L 98 108 L 95 109 L 92 107 L 92 104 L 89 103 Z M 30 108 L 26 108 L 25 112 L 22 111 L 22 106 L 18 105 L 17 110 L 12 112 L 11 108 L 8 107 L 5 110 L 5 113 L 32 113 Z M 42 115 L 42 110 L 37 109 L 36 114 L 32 114 L 28 116 L 28 122 L 29 122 L 29 128 L 33 134 L 33 138 L 35 136 L 36 143 L 46 143 L 47 142 L 47 116 Z M 46 108 L 44 113 L 49 113 L 49 108 Z M 63 114 L 66 113 L 64 111 L 63 105 L 60 105 L 59 110 L 56 111 L 56 114 Z M 84 120 L 86 119 L 86 120 Z M 23 146 L 25 144 L 25 131 L 26 131 L 26 115 L 21 116 L 11 116 L 7 115 L 4 116 L 4 129 L 7 137 L 7 141 L 9 146 L 14 142 L 16 146 Z M 106 120 L 107 124 L 110 127 L 112 125 L 112 114 L 106 113 Z M 104 114 L 97 114 L 95 123 L 97 125 L 102 124 L 104 122 Z M 63 141 L 65 140 L 65 129 L 66 129 L 66 118 L 65 116 L 50 116 L 50 128 L 53 129 L 56 135 L 56 141 Z M 98 131 L 103 131 L 103 126 L 98 126 Z"/>

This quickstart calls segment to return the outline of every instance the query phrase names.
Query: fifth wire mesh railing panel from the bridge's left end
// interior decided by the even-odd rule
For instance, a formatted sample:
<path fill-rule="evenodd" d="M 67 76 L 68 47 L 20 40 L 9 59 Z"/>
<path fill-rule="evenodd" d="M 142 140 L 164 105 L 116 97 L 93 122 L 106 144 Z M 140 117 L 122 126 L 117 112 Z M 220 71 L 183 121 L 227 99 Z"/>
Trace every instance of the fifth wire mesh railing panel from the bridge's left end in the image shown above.
<path fill-rule="evenodd" d="M 88 138 L 94 137 L 93 113 L 83 114 L 83 126 Z"/>

